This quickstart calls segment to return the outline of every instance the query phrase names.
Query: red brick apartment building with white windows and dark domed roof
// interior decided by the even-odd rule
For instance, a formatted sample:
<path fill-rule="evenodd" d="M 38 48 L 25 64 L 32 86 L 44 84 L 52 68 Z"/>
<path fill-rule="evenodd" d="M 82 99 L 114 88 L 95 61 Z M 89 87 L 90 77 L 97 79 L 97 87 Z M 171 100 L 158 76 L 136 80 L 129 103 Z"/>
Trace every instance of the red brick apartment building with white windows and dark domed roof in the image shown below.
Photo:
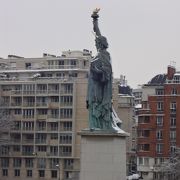
<path fill-rule="evenodd" d="M 163 179 L 160 164 L 180 146 L 180 72 L 168 66 L 142 87 L 138 111 L 138 171 L 144 179 Z"/>

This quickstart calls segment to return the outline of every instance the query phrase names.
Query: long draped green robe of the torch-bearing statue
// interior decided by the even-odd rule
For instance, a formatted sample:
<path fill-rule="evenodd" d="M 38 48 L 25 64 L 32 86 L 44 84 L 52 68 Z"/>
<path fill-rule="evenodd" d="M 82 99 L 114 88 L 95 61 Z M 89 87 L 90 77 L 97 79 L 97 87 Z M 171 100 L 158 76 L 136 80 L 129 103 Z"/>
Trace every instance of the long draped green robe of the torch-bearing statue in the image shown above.
<path fill-rule="evenodd" d="M 112 129 L 112 66 L 106 50 L 91 61 L 87 101 L 90 128 Z"/>

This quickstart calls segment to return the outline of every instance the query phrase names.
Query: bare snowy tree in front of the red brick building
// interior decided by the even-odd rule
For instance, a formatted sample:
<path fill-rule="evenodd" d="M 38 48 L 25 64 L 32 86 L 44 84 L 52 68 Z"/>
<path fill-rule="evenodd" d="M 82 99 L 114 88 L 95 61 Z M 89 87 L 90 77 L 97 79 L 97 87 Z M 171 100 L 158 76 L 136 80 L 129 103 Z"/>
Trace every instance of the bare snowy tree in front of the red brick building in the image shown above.
<path fill-rule="evenodd" d="M 161 164 L 160 171 L 168 180 L 180 179 L 180 148 L 177 147 L 170 158 Z"/>

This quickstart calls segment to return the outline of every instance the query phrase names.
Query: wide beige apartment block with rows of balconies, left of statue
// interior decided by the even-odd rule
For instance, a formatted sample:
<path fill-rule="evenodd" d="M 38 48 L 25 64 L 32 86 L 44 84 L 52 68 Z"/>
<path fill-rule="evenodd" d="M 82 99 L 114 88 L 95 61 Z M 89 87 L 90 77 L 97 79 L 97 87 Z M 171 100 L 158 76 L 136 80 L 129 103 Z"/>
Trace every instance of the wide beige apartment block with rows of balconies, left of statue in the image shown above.
<path fill-rule="evenodd" d="M 91 58 L 69 50 L 0 59 L 0 94 L 15 122 L 11 146 L 0 153 L 0 179 L 78 179 Z"/>

